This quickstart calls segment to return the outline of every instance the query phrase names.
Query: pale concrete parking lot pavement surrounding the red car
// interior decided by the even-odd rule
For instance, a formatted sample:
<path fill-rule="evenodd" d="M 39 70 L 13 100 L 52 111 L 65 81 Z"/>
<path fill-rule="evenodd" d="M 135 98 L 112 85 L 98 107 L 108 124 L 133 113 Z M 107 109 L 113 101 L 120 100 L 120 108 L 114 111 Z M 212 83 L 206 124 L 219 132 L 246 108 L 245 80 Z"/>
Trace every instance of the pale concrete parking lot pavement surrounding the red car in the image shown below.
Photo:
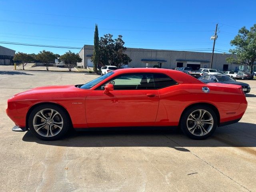
<path fill-rule="evenodd" d="M 251 92 L 240 122 L 207 140 L 176 130 L 71 132 L 52 142 L 12 132 L 12 95 L 96 77 L 0 70 L 0 191 L 256 191 L 256 80 L 244 80 Z"/>

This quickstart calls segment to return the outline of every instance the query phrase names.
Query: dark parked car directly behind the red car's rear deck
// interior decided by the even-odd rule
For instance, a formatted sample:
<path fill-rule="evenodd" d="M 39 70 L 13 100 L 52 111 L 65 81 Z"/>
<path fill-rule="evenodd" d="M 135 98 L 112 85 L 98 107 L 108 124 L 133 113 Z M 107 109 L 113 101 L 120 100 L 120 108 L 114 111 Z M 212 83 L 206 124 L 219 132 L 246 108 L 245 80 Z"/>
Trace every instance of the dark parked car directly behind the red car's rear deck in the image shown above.
<path fill-rule="evenodd" d="M 205 75 L 198 80 L 204 82 L 204 83 L 226 83 L 226 84 L 235 84 L 235 85 L 241 85 L 243 88 L 244 93 L 249 93 L 251 88 L 250 85 L 243 82 L 237 82 L 236 80 L 232 79 L 230 76 L 227 75 Z"/>

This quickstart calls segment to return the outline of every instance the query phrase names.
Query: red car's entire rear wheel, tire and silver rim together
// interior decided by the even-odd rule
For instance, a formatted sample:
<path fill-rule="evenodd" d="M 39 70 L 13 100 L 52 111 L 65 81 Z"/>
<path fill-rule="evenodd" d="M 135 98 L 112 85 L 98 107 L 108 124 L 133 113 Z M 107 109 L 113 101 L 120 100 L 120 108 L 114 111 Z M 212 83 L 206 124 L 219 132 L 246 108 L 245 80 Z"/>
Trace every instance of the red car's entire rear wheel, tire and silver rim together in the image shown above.
<path fill-rule="evenodd" d="M 194 106 L 184 112 L 180 126 L 188 137 L 206 139 L 216 130 L 217 116 L 208 106 Z"/>

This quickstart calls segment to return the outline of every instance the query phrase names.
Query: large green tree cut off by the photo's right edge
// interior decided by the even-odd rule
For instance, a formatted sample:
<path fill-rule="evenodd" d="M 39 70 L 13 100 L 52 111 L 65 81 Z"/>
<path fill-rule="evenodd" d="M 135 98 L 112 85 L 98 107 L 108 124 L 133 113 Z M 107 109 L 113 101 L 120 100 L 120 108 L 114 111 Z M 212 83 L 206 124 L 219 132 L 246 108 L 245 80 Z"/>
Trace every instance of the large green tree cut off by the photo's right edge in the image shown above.
<path fill-rule="evenodd" d="M 246 64 L 252 73 L 254 61 L 256 61 L 256 24 L 250 30 L 242 27 L 235 38 L 230 41 L 230 45 L 235 48 L 230 49 L 232 56 L 226 58 L 226 61 Z"/>

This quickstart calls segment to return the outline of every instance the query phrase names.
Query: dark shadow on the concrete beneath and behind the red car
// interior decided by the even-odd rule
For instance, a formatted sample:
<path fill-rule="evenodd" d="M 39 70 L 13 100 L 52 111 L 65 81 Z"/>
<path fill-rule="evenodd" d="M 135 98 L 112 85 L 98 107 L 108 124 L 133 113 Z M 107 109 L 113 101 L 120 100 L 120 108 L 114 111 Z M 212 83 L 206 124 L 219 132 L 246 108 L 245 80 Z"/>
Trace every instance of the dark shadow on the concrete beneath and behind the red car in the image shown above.
<path fill-rule="evenodd" d="M 22 140 L 66 147 L 171 147 L 186 152 L 186 147 L 256 147 L 256 124 L 238 122 L 223 126 L 206 140 L 192 140 L 175 129 L 70 131 L 66 138 L 57 141 L 39 140 L 28 131 Z"/>

